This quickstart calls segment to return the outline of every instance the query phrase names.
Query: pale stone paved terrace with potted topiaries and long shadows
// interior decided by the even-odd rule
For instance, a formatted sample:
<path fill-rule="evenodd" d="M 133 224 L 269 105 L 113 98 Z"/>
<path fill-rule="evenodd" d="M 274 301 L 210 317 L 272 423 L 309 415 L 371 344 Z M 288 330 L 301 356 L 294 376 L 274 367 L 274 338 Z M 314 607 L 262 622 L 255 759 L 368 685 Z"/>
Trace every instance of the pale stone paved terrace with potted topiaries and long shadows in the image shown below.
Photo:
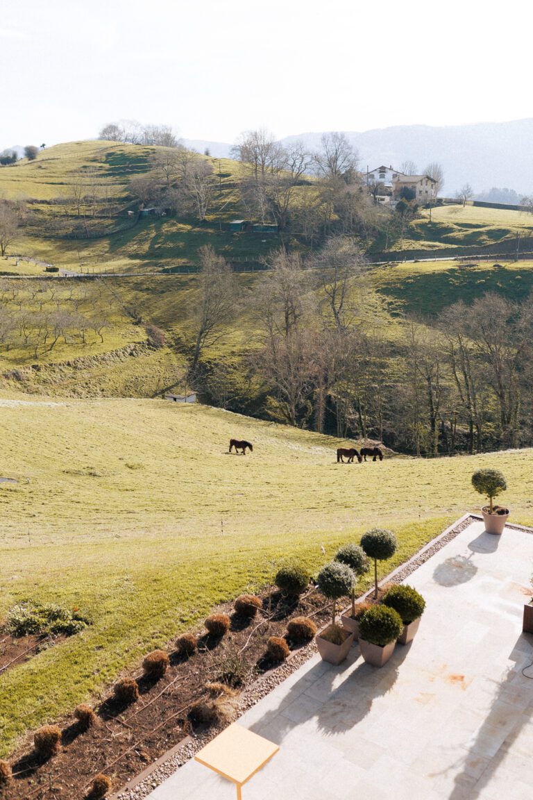
<path fill-rule="evenodd" d="M 531 572 L 533 532 L 472 522 L 408 578 L 427 601 L 411 646 L 382 669 L 357 646 L 339 667 L 313 657 L 239 720 L 280 745 L 243 800 L 531 800 Z M 149 794 L 235 797 L 196 762 Z"/>

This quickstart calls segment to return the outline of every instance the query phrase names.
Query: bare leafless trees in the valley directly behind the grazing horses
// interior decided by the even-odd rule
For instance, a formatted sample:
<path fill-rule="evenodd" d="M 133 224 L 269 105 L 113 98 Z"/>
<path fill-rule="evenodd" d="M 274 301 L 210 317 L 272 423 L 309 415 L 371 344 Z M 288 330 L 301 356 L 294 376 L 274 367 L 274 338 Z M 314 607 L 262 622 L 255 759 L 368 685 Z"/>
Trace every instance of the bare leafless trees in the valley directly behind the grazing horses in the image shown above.
<path fill-rule="evenodd" d="M 210 402 L 416 455 L 533 443 L 531 298 L 392 324 L 352 238 L 307 259 L 279 250 L 253 290 L 212 248 L 200 258 L 189 371 Z M 254 332 L 245 355 L 217 358 L 237 318 Z"/>

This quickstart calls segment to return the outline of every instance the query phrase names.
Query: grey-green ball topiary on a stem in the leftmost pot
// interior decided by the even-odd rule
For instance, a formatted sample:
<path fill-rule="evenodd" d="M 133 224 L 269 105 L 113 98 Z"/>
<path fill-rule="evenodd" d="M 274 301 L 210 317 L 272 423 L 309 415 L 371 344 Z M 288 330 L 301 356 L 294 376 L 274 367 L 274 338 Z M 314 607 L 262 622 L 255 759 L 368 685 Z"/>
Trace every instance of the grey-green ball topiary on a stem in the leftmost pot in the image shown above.
<path fill-rule="evenodd" d="M 353 643 L 353 634 L 336 624 L 336 602 L 352 591 L 356 576 L 346 564 L 332 561 L 318 574 L 318 588 L 332 602 L 332 624 L 316 636 L 316 646 L 324 661 L 336 666 L 344 661 Z"/>

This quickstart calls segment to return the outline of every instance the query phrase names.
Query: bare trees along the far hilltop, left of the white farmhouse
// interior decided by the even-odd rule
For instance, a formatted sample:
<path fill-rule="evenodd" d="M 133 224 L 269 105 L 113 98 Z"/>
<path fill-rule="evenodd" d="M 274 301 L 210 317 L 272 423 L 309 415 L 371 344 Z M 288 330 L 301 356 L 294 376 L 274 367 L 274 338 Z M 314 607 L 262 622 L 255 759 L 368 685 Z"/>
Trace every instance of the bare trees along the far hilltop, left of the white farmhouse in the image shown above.
<path fill-rule="evenodd" d="M 383 234 L 388 246 L 416 214 L 408 188 L 397 213 L 384 209 L 378 195 L 388 190 L 380 182 L 367 186 L 358 169 L 359 155 L 343 133 L 324 134 L 320 148 L 308 150 L 303 142 L 279 142 L 265 129 L 246 131 L 233 146 L 241 172 L 232 176 L 222 176 L 220 160 L 217 174 L 216 159 L 188 150 L 169 126 L 109 123 L 99 135 L 164 146 L 151 156 L 147 174 L 132 178 L 129 188 L 141 207 L 153 206 L 169 216 L 204 222 L 225 209 L 225 189 L 237 190 L 239 213 L 246 219 L 273 223 L 282 234 L 298 235 L 311 246 L 335 233 L 365 242 Z M 408 174 L 416 171 L 413 162 L 404 162 L 403 168 Z M 438 162 L 424 172 L 442 188 L 444 172 Z"/>

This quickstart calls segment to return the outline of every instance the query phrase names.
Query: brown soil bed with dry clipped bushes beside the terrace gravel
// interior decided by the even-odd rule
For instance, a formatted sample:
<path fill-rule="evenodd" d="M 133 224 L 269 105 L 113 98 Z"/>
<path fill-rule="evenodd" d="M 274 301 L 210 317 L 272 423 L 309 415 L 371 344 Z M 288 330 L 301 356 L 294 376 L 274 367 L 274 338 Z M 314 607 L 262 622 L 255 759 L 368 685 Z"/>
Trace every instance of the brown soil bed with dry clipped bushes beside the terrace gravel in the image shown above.
<path fill-rule="evenodd" d="M 0 798 L 80 800 L 89 797 L 99 773 L 108 775 L 117 791 L 189 733 L 201 732 L 201 726 L 193 728 L 188 713 L 205 697 L 206 683 L 228 682 L 245 690 L 278 666 L 265 656 L 269 637 L 283 636 L 288 620 L 297 616 L 311 617 L 320 628 L 330 613 L 314 590 L 297 601 L 278 593 L 262 599 L 264 610 L 252 620 L 235 614 L 232 606 L 217 608 L 231 617 L 229 634 L 213 638 L 203 631 L 198 650 L 189 659 L 169 646 L 170 663 L 163 678 L 133 676 L 139 685 L 137 702 L 118 705 L 109 692 L 109 698 L 94 707 L 97 722 L 89 730 L 81 730 L 74 718 L 59 721 L 62 746 L 53 758 L 39 760 L 29 738 L 9 759 L 13 778 L 3 790 L 0 787 Z"/>

